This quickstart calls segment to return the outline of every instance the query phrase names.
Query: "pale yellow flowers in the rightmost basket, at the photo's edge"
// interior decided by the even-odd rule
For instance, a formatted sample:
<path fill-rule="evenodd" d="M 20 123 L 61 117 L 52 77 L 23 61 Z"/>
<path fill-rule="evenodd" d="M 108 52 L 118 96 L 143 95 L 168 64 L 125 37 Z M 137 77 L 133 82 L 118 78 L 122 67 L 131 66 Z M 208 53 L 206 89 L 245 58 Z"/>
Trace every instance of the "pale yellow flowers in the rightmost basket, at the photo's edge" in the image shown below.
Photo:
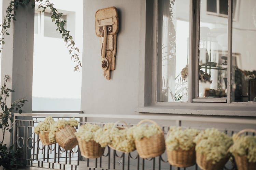
<path fill-rule="evenodd" d="M 249 162 L 256 162 L 256 136 L 238 136 L 233 134 L 234 145 L 230 147 L 230 152 L 234 156 L 246 155 Z"/>

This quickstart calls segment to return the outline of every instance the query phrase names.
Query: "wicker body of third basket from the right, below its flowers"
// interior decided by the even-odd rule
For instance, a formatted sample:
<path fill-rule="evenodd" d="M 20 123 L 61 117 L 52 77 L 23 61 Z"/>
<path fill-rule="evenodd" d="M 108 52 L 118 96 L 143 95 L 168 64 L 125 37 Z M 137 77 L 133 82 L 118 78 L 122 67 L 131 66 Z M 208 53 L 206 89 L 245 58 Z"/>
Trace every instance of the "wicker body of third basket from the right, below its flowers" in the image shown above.
<path fill-rule="evenodd" d="M 180 168 L 186 168 L 196 164 L 195 147 L 192 147 L 187 151 L 182 150 L 180 148 L 173 151 L 169 151 L 166 149 L 166 151 L 167 151 L 168 162 L 171 165 L 174 165 Z"/>

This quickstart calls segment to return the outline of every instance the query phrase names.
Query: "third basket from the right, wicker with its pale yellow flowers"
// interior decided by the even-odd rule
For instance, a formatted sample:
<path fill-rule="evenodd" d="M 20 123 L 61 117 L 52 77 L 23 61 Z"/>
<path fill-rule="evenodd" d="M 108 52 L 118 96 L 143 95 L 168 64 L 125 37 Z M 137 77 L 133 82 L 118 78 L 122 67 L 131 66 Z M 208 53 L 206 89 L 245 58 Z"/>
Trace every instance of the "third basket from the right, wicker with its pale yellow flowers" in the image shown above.
<path fill-rule="evenodd" d="M 196 129 L 170 127 L 165 140 L 168 162 L 177 167 L 190 167 L 196 163 L 195 136 L 199 134 Z"/>

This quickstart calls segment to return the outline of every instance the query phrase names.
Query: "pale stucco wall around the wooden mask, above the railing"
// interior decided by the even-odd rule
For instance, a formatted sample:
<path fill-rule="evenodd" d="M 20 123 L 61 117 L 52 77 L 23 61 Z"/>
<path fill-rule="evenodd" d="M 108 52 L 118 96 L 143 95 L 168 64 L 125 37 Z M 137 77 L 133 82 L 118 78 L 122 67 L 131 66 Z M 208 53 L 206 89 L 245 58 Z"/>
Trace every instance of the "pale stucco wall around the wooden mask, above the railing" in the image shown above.
<path fill-rule="evenodd" d="M 84 0 L 84 42 L 81 109 L 92 114 L 133 114 L 138 105 L 139 0 Z M 95 34 L 95 12 L 115 6 L 119 12 L 116 69 L 103 77 L 100 38 Z"/>

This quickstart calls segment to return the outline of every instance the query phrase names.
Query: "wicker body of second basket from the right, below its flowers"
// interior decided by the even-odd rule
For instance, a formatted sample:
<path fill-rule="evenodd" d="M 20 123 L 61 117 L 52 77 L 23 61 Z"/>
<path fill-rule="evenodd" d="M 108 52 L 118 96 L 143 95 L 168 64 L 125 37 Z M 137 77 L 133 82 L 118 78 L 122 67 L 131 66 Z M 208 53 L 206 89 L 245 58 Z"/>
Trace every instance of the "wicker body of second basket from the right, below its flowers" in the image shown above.
<path fill-rule="evenodd" d="M 215 164 L 213 164 L 211 160 L 206 159 L 205 155 L 196 152 L 197 165 L 203 170 L 220 170 L 228 162 L 229 157 L 230 157 L 230 154 L 228 154 L 226 157 L 219 160 L 219 162 L 216 162 Z"/>

